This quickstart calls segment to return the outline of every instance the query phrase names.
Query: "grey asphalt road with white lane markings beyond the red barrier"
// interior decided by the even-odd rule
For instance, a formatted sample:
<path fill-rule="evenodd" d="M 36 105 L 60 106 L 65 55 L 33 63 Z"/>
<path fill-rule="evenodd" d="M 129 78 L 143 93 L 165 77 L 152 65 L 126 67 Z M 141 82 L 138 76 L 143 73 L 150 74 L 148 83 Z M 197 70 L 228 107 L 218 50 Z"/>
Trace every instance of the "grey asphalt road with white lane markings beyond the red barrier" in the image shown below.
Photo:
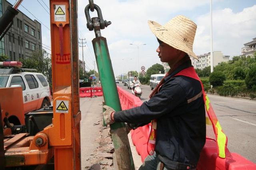
<path fill-rule="evenodd" d="M 127 89 L 122 83 L 118 86 Z M 152 92 L 142 85 L 143 102 Z M 228 98 L 208 94 L 222 130 L 228 137 L 228 149 L 256 163 L 256 101 Z"/>

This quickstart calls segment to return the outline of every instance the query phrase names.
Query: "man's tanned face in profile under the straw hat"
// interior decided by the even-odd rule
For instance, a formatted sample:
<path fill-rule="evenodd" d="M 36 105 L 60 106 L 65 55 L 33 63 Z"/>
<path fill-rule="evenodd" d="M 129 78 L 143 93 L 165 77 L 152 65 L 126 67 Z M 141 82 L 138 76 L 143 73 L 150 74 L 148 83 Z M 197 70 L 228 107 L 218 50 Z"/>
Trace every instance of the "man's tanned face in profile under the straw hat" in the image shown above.
<path fill-rule="evenodd" d="M 159 43 L 159 47 L 156 49 L 156 52 L 158 53 L 160 61 L 169 64 L 175 63 L 178 57 L 184 53 L 183 51 L 175 49 L 164 42 Z"/>

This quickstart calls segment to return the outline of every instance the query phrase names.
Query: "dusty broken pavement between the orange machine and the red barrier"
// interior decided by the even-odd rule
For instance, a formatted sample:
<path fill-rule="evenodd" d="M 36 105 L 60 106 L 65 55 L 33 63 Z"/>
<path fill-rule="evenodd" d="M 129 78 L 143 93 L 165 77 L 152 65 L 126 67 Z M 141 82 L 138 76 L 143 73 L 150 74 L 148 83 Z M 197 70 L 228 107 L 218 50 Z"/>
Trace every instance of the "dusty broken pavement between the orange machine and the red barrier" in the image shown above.
<path fill-rule="evenodd" d="M 102 125 L 103 97 L 80 98 L 81 120 L 81 157 L 82 170 L 118 170 L 110 128 Z M 135 169 L 142 164 L 140 156 L 132 145 Z"/>

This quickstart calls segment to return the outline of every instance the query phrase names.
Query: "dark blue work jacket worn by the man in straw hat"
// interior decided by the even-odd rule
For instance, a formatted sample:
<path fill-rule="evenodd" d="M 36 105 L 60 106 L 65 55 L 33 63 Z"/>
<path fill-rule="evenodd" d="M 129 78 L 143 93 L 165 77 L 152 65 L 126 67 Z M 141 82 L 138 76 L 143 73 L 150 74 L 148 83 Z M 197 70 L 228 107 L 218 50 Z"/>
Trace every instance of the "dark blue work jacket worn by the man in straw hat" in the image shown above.
<path fill-rule="evenodd" d="M 156 148 L 158 158 L 169 168 L 176 162 L 196 165 L 206 141 L 206 118 L 201 84 L 186 76 L 175 76 L 191 61 L 180 65 L 160 91 L 140 107 L 118 111 L 117 122 L 148 123 L 157 119 Z"/>

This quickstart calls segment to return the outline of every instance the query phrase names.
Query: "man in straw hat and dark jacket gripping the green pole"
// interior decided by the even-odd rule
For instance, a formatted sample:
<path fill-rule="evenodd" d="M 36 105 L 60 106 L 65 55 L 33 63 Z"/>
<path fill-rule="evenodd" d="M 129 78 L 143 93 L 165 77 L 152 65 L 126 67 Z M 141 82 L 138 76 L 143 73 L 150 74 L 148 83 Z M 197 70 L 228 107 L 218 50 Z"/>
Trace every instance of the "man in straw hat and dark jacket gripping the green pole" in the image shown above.
<path fill-rule="evenodd" d="M 198 59 L 193 52 L 197 26 L 184 16 L 176 16 L 163 26 L 154 21 L 148 24 L 159 42 L 156 52 L 160 61 L 171 69 L 148 102 L 118 112 L 104 106 L 104 119 L 107 124 L 116 121 L 136 126 L 152 121 L 148 145 L 153 152 L 139 170 L 195 170 L 206 141 L 202 86 L 190 77 L 197 76 L 190 60 Z"/>

